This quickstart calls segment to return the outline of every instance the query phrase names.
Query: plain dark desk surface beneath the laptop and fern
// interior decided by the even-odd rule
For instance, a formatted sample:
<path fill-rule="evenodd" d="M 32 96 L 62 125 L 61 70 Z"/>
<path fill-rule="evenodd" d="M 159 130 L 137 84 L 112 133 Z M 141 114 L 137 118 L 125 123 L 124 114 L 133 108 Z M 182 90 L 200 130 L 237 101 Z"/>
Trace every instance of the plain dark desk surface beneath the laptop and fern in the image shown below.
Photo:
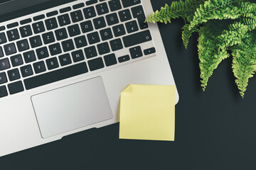
<path fill-rule="evenodd" d="M 154 10 L 171 3 L 151 2 Z M 159 24 L 180 95 L 175 142 L 119 140 L 116 123 L 1 157 L 0 169 L 256 169 L 256 78 L 250 79 L 242 99 L 228 58 L 203 92 L 198 35 L 193 35 L 185 50 L 182 26 L 181 19 Z"/>

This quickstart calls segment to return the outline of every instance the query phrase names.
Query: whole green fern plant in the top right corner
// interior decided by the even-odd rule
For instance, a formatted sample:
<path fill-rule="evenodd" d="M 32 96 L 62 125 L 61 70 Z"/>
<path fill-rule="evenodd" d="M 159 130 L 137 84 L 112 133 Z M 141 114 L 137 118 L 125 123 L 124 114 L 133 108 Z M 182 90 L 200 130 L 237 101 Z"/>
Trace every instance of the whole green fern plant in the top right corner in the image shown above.
<path fill-rule="evenodd" d="M 244 97 L 249 78 L 256 71 L 255 0 L 185 0 L 155 11 L 145 22 L 171 23 L 183 18 L 182 40 L 185 47 L 192 33 L 198 32 L 198 57 L 201 86 L 206 89 L 213 70 L 233 56 L 235 83 Z"/>

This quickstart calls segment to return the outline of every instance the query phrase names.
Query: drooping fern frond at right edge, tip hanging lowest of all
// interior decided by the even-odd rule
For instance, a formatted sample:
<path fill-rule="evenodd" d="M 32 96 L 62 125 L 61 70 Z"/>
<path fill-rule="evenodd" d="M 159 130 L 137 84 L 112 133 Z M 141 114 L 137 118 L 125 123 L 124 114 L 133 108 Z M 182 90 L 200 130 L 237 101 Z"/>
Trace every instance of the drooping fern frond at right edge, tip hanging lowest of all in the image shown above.
<path fill-rule="evenodd" d="M 235 83 L 238 85 L 242 97 L 245 95 L 249 79 L 256 72 L 256 33 L 248 34 L 242 43 L 232 49 Z"/>

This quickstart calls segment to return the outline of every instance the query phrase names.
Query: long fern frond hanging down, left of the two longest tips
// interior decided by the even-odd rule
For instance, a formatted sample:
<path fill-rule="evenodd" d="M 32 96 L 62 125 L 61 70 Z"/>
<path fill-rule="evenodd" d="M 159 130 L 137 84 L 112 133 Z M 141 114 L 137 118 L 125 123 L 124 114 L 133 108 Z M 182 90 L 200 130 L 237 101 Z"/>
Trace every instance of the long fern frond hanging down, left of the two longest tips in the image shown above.
<path fill-rule="evenodd" d="M 198 55 L 199 55 L 199 67 L 201 69 L 201 86 L 205 91 L 208 84 L 208 79 L 213 74 L 213 70 L 218 67 L 218 64 L 225 58 L 227 58 L 228 52 L 226 49 L 220 49 L 217 42 L 213 29 L 213 24 L 206 24 L 199 30 L 198 38 Z"/>

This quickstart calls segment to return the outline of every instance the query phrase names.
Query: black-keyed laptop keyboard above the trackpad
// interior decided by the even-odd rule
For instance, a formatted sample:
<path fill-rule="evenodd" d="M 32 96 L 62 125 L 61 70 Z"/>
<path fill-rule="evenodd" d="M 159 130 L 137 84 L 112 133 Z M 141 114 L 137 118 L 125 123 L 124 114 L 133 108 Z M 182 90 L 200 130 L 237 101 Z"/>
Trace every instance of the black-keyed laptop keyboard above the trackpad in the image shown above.
<path fill-rule="evenodd" d="M 155 55 L 140 0 L 80 2 L 0 26 L 0 98 Z"/>

